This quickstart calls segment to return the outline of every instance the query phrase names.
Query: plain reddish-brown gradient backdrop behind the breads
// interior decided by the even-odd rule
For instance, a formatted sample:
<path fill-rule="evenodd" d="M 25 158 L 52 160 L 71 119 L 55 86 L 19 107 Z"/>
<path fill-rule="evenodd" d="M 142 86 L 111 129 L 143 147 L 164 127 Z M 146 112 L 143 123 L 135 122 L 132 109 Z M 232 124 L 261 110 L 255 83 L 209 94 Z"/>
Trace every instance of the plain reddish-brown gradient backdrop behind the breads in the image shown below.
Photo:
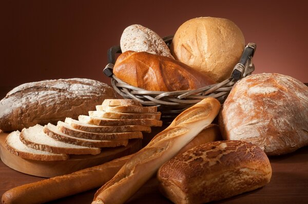
<path fill-rule="evenodd" d="M 308 82 L 305 1 L 2 1 L 0 86 L 102 74 L 106 51 L 122 31 L 140 24 L 161 36 L 186 20 L 228 18 L 255 42 L 254 73 Z"/>

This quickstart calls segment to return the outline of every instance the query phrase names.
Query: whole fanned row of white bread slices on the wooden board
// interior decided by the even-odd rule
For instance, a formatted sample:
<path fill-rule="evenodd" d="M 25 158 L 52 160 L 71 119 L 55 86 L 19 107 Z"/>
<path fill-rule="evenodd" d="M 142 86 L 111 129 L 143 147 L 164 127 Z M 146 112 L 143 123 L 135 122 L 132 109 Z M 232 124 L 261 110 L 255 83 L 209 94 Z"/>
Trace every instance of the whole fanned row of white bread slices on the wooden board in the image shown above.
<path fill-rule="evenodd" d="M 6 146 L 12 153 L 32 160 L 67 160 L 69 154 L 99 154 L 103 147 L 126 146 L 142 139 L 151 126 L 162 126 L 157 107 L 143 107 L 130 99 L 106 99 L 89 116 L 66 118 L 57 125 L 35 125 L 11 132 Z"/>

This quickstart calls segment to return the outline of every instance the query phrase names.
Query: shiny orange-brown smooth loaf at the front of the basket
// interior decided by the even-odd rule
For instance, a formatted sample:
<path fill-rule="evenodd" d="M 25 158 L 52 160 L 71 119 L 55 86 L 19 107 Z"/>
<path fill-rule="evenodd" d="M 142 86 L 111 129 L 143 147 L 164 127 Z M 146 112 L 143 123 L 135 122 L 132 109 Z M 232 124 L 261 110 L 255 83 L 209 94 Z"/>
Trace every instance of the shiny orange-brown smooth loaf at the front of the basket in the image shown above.
<path fill-rule="evenodd" d="M 132 86 L 164 92 L 196 89 L 215 83 L 182 62 L 147 52 L 121 54 L 114 64 L 113 74 Z"/>

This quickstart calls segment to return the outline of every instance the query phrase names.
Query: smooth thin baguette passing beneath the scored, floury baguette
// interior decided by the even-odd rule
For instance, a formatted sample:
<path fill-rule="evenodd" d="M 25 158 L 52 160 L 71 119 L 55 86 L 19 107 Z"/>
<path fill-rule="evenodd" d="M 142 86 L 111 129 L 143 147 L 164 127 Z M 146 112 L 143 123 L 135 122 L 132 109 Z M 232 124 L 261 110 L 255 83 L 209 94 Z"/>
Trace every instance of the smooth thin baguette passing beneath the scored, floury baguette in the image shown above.
<path fill-rule="evenodd" d="M 220 137 L 219 134 L 217 126 L 209 125 L 183 149 L 190 149 L 207 142 L 213 142 Z M 105 164 L 71 174 L 15 187 L 3 194 L 2 203 L 42 203 L 101 187 L 121 169 L 132 155 L 117 158 Z M 80 182 L 83 184 L 80 185 Z"/>

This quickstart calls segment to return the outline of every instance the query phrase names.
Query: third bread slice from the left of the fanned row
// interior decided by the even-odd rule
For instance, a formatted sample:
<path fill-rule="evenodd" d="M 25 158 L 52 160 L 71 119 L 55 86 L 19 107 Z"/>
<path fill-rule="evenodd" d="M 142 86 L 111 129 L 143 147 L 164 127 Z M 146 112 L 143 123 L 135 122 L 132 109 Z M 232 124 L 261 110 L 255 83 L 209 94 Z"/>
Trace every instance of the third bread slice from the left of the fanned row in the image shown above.
<path fill-rule="evenodd" d="M 43 131 L 51 138 L 65 143 L 81 145 L 86 147 L 118 147 L 126 146 L 128 140 L 89 140 L 82 138 L 71 137 L 70 135 L 61 132 L 55 125 L 48 123 L 44 126 Z"/>

